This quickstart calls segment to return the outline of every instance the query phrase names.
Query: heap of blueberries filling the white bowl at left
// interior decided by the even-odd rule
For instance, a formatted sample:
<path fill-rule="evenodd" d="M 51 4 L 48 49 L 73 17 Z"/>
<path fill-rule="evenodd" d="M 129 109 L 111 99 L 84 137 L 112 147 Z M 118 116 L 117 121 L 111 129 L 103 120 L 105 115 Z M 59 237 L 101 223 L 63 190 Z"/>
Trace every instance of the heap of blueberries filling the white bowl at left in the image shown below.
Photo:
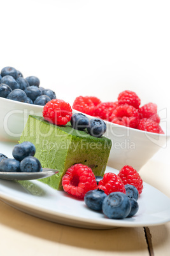
<path fill-rule="evenodd" d="M 48 101 L 56 99 L 55 92 L 39 87 L 39 83 L 36 76 L 24 78 L 17 69 L 5 67 L 0 75 L 0 97 L 45 106 Z"/>

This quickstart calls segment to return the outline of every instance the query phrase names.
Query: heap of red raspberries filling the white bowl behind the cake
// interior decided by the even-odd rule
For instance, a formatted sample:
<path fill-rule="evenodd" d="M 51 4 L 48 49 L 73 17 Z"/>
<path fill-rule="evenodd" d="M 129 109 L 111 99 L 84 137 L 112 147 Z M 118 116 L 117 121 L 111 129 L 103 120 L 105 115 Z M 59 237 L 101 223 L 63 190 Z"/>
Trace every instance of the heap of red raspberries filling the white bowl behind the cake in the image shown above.
<path fill-rule="evenodd" d="M 76 97 L 73 109 L 114 124 L 164 134 L 160 127 L 157 104 L 147 103 L 143 106 L 140 104 L 141 99 L 135 92 L 124 90 L 120 92 L 115 102 L 103 103 L 97 97 Z"/>

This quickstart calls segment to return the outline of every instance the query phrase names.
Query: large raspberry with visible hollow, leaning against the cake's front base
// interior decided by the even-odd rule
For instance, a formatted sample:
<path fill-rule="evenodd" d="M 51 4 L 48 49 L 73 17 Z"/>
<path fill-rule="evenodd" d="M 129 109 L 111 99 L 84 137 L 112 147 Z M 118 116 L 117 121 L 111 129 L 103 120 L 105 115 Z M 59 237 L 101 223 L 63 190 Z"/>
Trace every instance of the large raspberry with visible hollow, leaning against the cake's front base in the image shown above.
<path fill-rule="evenodd" d="M 96 178 L 92 169 L 83 164 L 74 164 L 67 169 L 62 177 L 62 186 L 71 196 L 83 199 L 89 190 L 97 188 Z"/>

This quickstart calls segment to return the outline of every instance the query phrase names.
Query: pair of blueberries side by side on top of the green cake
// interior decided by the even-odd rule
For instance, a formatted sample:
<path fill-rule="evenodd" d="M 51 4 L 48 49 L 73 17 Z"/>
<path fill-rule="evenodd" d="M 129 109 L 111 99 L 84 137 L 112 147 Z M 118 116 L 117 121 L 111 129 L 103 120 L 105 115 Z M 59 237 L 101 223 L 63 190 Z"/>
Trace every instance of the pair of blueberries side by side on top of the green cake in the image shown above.
<path fill-rule="evenodd" d="M 85 115 L 77 113 L 71 117 L 70 122 L 74 129 L 80 131 L 87 129 L 87 132 L 89 132 L 90 135 L 97 138 L 103 136 L 104 132 L 106 132 L 106 124 L 99 118 L 92 118 L 89 121 Z"/>

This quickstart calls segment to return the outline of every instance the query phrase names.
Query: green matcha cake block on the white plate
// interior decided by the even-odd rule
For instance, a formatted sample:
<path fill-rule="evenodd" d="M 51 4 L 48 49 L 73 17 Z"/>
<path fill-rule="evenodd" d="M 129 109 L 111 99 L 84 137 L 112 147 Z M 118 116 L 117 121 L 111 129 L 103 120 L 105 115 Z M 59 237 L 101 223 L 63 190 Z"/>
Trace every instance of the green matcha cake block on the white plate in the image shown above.
<path fill-rule="evenodd" d="M 102 136 L 96 138 L 85 131 L 78 131 L 67 125 L 53 125 L 43 117 L 30 115 L 20 143 L 31 141 L 36 146 L 34 155 L 42 167 L 59 171 L 42 181 L 57 190 L 62 189 L 62 176 L 73 164 L 89 166 L 95 175 L 103 176 L 111 149 L 111 140 Z"/>

